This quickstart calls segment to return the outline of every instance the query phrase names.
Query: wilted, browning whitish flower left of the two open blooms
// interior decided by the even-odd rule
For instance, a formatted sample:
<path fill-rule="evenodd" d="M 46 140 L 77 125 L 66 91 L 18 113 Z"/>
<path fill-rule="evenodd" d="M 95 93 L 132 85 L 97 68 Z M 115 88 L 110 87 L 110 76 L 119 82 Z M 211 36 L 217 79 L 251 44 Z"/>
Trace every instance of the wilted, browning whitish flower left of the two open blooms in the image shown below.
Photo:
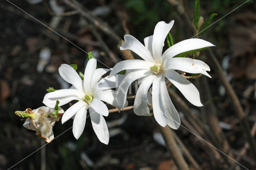
<path fill-rule="evenodd" d="M 51 116 L 52 111 L 54 111 L 54 109 L 46 106 L 34 110 L 26 109 L 25 112 L 30 115 L 33 114 L 33 117 L 26 119 L 23 126 L 30 130 L 36 130 L 36 135 L 44 138 L 48 143 L 51 142 L 54 139 L 52 127 L 55 125 L 56 121 L 60 120 L 60 116 L 64 113 L 64 110 L 60 107 L 58 116 Z"/>

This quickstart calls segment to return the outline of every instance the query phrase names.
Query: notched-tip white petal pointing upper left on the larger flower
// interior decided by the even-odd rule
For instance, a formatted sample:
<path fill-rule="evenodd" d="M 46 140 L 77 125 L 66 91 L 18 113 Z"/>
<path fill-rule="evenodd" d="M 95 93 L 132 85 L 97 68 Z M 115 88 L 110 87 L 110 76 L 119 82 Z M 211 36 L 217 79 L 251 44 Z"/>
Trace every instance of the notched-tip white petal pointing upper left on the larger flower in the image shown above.
<path fill-rule="evenodd" d="M 146 49 L 146 47 L 139 42 L 136 38 L 131 35 L 124 36 L 124 44 L 121 45 L 120 50 L 130 49 L 134 53 L 138 54 L 145 61 L 154 63 L 154 60 L 150 54 L 150 51 Z"/>

